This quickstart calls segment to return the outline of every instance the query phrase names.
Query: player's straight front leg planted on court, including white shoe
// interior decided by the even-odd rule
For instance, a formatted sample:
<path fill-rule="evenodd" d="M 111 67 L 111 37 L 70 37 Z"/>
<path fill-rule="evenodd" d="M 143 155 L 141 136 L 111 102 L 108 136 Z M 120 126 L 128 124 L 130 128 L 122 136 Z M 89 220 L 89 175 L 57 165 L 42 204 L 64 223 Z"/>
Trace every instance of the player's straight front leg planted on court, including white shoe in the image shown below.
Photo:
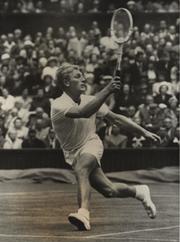
<path fill-rule="evenodd" d="M 71 213 L 68 217 L 71 224 L 79 230 L 90 230 L 89 222 L 89 203 L 91 195 L 91 185 L 89 176 L 92 170 L 97 167 L 96 158 L 87 153 L 83 153 L 73 164 L 78 186 L 78 203 L 77 213 Z"/>

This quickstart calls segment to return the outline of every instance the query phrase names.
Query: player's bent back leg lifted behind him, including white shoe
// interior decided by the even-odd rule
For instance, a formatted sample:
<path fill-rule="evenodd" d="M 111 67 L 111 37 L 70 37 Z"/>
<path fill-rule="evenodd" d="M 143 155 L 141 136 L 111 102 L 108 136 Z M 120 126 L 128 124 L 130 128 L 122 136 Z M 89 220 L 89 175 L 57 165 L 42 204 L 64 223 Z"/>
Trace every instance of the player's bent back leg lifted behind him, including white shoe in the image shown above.
<path fill-rule="evenodd" d="M 155 218 L 156 207 L 151 200 L 150 191 L 146 185 L 128 186 L 124 183 L 112 183 L 100 167 L 90 175 L 92 187 L 105 197 L 134 197 L 140 200 L 150 218 Z"/>

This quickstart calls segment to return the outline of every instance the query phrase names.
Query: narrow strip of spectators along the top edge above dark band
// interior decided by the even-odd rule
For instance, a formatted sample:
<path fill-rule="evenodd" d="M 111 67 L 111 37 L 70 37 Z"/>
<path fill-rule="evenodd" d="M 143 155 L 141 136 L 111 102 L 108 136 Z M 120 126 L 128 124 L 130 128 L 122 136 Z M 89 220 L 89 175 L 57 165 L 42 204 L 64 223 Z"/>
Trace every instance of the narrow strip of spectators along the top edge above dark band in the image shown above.
<path fill-rule="evenodd" d="M 110 13 L 118 7 L 126 7 L 131 12 L 177 12 L 177 0 L 132 1 L 132 0 L 0 0 L 3 13 Z"/>

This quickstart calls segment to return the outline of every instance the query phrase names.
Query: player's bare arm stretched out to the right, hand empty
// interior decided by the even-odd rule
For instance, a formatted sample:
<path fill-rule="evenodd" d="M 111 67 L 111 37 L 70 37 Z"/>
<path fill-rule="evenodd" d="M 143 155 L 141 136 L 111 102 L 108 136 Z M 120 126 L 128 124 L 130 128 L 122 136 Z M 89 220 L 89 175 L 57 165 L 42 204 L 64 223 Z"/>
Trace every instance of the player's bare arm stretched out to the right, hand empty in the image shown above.
<path fill-rule="evenodd" d="M 144 136 L 147 139 L 151 139 L 153 141 L 159 141 L 159 142 L 161 140 L 158 135 L 144 129 L 143 127 L 136 124 L 135 122 L 125 117 L 124 115 L 116 114 L 112 111 L 109 111 L 106 114 L 105 119 L 107 119 L 111 123 L 116 124 L 118 126 L 123 126 L 124 128 L 128 129 L 131 132 L 139 133 L 140 135 Z"/>

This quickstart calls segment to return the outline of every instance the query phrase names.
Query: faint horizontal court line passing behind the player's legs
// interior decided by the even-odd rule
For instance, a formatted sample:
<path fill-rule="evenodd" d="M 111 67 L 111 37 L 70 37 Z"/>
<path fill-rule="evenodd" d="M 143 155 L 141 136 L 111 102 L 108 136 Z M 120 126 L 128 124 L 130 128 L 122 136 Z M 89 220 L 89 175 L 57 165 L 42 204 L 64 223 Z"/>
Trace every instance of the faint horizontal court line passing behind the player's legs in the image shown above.
<path fill-rule="evenodd" d="M 13 195 L 33 195 L 33 194 L 47 194 L 47 193 L 66 193 L 66 194 L 75 194 L 76 191 L 74 192 L 68 192 L 68 191 L 56 191 L 56 190 L 53 190 L 53 191 L 35 191 L 35 192 L 2 192 L 0 193 L 0 196 L 13 196 Z M 167 197 L 167 198 L 173 198 L 173 197 L 179 197 L 178 195 L 153 195 L 152 194 L 152 197 Z"/>

